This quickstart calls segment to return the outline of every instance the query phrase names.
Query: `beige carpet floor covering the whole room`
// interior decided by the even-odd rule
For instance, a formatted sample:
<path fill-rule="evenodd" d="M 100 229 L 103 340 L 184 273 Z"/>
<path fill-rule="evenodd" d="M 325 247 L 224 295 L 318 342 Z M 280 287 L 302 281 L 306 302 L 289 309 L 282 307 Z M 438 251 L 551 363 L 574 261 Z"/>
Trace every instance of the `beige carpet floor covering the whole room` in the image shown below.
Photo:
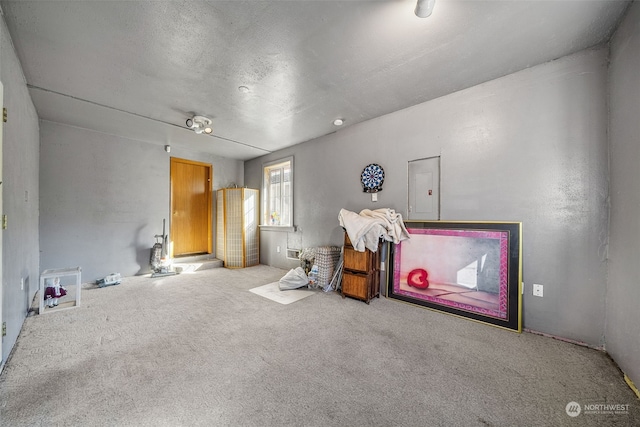
<path fill-rule="evenodd" d="M 284 305 L 250 292 L 285 273 L 125 278 L 28 317 L 0 376 L 0 424 L 640 425 L 603 352 L 384 297 Z"/>

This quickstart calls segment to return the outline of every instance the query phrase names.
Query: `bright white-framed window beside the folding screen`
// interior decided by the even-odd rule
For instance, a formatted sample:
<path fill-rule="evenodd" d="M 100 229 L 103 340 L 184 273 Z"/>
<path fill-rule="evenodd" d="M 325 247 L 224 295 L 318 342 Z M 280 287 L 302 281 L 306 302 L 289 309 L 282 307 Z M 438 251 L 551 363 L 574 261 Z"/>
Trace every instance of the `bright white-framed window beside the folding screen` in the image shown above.
<path fill-rule="evenodd" d="M 293 227 L 293 157 L 263 166 L 262 225 Z"/>

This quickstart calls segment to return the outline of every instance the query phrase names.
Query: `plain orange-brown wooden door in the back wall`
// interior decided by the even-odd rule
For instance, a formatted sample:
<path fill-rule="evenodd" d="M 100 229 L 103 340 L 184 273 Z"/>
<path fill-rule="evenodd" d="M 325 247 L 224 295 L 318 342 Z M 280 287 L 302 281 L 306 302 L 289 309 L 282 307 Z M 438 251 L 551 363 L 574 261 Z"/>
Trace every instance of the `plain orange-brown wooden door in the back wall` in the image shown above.
<path fill-rule="evenodd" d="M 170 256 L 211 253 L 210 164 L 171 158 Z"/>

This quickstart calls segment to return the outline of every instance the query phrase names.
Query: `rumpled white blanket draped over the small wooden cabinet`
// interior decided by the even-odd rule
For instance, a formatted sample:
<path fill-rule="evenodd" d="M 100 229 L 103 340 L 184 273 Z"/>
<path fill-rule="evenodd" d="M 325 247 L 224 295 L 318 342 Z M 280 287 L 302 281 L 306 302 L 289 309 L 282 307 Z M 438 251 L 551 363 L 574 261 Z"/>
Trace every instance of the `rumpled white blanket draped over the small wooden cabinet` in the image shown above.
<path fill-rule="evenodd" d="M 353 248 L 358 252 L 364 252 L 365 249 L 377 251 L 381 237 L 393 243 L 409 238 L 402 222 L 402 215 L 393 209 L 363 209 L 359 214 L 341 209 L 338 220 L 347 231 Z"/>

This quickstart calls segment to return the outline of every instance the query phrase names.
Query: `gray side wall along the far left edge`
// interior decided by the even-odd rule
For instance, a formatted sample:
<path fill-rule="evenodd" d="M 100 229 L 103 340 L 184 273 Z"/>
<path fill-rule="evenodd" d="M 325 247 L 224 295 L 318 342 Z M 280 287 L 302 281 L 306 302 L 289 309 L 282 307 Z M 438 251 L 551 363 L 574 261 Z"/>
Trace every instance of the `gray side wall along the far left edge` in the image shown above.
<path fill-rule="evenodd" d="M 0 80 L 8 121 L 3 130 L 2 361 L 9 356 L 38 288 L 38 116 L 4 18 L 0 28 Z M 24 287 L 21 286 L 24 279 Z"/>

